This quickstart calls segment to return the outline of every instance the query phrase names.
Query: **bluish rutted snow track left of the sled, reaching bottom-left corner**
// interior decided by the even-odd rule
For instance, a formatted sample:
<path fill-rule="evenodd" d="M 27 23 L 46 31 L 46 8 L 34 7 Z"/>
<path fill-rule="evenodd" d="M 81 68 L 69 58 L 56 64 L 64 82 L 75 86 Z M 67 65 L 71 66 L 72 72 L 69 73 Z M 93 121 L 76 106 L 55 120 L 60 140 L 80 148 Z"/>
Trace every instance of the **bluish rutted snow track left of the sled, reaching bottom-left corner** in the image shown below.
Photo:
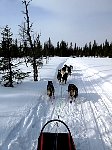
<path fill-rule="evenodd" d="M 40 100 L 43 101 L 42 97 L 40 97 Z M 46 114 L 48 113 L 48 110 L 47 109 L 44 110 L 44 103 L 45 103 L 44 101 L 43 101 L 43 105 L 41 105 L 41 103 L 37 103 L 37 105 L 33 109 L 29 110 L 27 116 L 22 118 L 21 121 L 12 129 L 7 139 L 5 140 L 4 144 L 2 145 L 3 149 L 9 149 L 9 150 L 11 149 L 23 150 L 24 148 L 32 149 L 32 150 L 36 149 L 37 147 L 36 137 L 39 135 L 36 129 L 39 128 L 41 130 L 42 126 L 45 124 L 47 119 Z M 40 118 L 41 116 L 40 114 L 45 117 Z M 32 141 L 28 141 L 29 136 L 30 139 L 32 139 Z M 24 143 L 24 147 L 22 147 L 23 143 Z"/>

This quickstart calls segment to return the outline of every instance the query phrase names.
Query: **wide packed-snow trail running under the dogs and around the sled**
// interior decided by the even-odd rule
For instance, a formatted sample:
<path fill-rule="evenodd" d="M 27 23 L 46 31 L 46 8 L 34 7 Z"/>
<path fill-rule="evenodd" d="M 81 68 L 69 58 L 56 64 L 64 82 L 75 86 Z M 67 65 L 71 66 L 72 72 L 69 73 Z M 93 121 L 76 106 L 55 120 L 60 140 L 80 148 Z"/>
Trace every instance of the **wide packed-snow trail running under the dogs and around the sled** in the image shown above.
<path fill-rule="evenodd" d="M 65 60 L 55 60 L 55 68 L 51 59 L 42 68 L 45 72 L 40 72 L 36 103 L 12 128 L 1 150 L 36 150 L 42 126 L 58 118 L 68 125 L 77 150 L 112 150 L 112 78 L 111 74 L 106 76 L 111 66 L 104 63 L 105 69 L 100 70 L 101 64 L 94 61 L 88 66 L 86 59 Z M 56 79 L 57 69 L 63 63 L 73 65 L 66 85 L 59 84 Z M 53 80 L 55 87 L 55 99 L 52 101 L 46 95 L 48 80 Z M 69 83 L 74 83 L 79 90 L 78 98 L 72 103 L 67 93 Z"/>

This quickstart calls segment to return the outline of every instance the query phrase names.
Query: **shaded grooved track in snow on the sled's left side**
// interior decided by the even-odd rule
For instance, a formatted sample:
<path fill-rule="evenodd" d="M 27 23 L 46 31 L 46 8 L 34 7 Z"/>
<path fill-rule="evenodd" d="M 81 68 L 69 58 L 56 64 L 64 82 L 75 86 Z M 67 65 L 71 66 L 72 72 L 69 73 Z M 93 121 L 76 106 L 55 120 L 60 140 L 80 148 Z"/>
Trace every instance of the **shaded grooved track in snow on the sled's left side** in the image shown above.
<path fill-rule="evenodd" d="M 41 99 L 41 96 L 39 99 Z M 41 129 L 41 124 L 38 124 L 38 122 L 40 122 L 41 120 L 38 112 L 43 113 L 43 107 L 39 104 L 39 102 L 32 109 L 29 109 L 27 115 L 22 117 L 21 120 L 19 120 L 19 122 L 12 128 L 7 138 L 5 139 L 4 143 L 2 144 L 1 149 L 3 150 L 8 150 L 8 149 L 23 150 L 24 148 L 29 149 L 29 147 L 31 147 L 31 145 L 33 144 L 33 143 L 31 144 L 31 142 L 35 142 L 36 136 L 38 134 L 35 133 L 35 131 L 37 130 L 37 128 Z M 28 139 L 26 135 L 28 137 L 33 135 L 32 138 L 33 141 L 27 141 Z M 24 143 L 24 148 L 22 148 L 23 143 Z M 36 140 L 36 145 L 37 145 L 37 140 Z"/>

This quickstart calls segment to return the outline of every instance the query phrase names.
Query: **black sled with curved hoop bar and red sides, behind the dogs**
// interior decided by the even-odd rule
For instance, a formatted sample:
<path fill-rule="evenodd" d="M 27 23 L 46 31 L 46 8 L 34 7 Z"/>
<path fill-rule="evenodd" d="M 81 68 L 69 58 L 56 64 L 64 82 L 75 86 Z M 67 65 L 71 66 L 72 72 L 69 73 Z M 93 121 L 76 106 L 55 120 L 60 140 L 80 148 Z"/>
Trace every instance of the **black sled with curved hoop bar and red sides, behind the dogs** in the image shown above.
<path fill-rule="evenodd" d="M 52 122 L 63 124 L 67 129 L 67 133 L 57 131 L 52 133 L 45 132 L 44 129 L 46 126 Z M 76 150 L 68 126 L 58 119 L 48 121 L 40 132 L 37 150 Z"/>

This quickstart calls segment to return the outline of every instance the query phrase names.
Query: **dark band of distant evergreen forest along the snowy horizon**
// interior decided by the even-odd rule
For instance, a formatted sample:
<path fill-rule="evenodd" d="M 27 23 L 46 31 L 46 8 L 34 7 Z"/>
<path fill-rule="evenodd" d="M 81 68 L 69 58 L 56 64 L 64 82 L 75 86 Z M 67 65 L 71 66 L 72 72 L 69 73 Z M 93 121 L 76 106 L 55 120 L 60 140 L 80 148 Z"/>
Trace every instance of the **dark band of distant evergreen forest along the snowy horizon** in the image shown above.
<path fill-rule="evenodd" d="M 7 54 L 7 41 L 5 39 L 1 40 L 0 46 L 0 57 L 4 57 Z M 10 52 L 11 57 L 25 57 L 30 56 L 32 57 L 33 53 L 31 48 L 28 45 L 27 41 L 20 42 L 18 44 L 18 40 L 12 40 L 10 45 Z M 69 57 L 69 56 L 76 56 L 76 57 L 112 57 L 112 43 L 109 43 L 107 39 L 103 44 L 98 45 L 94 40 L 93 44 L 90 42 L 89 44 L 85 44 L 84 47 L 79 47 L 77 44 L 73 44 L 72 42 L 68 44 L 65 41 L 57 42 L 57 46 L 54 47 L 51 39 L 44 43 L 42 46 L 41 42 L 39 41 L 36 43 L 34 40 L 34 51 L 35 56 L 37 58 L 41 56 L 60 56 L 60 57 Z"/>

